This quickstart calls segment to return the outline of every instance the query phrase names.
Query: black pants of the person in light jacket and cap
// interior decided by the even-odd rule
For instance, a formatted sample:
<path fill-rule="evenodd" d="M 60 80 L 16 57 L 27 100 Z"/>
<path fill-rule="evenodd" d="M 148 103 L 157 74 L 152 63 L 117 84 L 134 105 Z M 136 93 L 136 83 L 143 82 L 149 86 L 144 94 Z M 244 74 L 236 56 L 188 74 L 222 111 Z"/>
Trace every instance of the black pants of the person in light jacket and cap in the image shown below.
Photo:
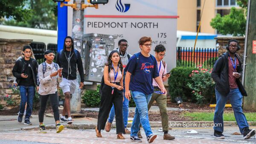
<path fill-rule="evenodd" d="M 55 121 L 59 121 L 60 114 L 58 111 L 58 94 L 57 94 L 57 92 L 55 92 L 55 94 L 39 95 L 39 98 L 40 98 L 40 110 L 38 113 L 39 122 L 42 123 L 44 121 L 44 112 L 46 109 L 48 98 L 50 98 L 50 103 L 52 106 L 54 119 L 55 119 Z"/>

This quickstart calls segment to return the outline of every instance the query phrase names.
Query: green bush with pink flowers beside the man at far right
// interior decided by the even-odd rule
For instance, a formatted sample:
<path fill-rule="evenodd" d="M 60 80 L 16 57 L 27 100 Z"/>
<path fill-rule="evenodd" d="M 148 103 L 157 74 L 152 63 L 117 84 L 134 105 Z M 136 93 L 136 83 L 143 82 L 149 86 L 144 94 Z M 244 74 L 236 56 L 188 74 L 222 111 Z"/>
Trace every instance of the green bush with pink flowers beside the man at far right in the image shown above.
<path fill-rule="evenodd" d="M 211 71 L 208 69 L 193 70 L 189 75 L 192 81 L 187 86 L 192 90 L 198 104 L 209 103 L 214 99 L 215 82 L 211 78 Z"/>

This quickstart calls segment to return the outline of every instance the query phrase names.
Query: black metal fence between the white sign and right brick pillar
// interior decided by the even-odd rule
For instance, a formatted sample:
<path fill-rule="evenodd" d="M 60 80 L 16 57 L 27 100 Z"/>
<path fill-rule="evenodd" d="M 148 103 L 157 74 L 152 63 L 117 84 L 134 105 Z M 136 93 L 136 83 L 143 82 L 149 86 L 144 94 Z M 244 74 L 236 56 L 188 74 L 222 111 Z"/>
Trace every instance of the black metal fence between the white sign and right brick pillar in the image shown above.
<path fill-rule="evenodd" d="M 177 66 L 213 68 L 218 59 L 218 48 L 177 47 Z"/>

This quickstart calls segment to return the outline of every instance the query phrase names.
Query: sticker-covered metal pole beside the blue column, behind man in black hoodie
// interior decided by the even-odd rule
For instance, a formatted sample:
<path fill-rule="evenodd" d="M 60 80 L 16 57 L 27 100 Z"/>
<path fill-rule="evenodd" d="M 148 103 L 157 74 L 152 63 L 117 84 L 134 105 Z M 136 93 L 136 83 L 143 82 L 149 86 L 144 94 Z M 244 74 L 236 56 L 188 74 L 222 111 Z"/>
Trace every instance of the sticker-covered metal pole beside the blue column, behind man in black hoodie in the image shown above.
<path fill-rule="evenodd" d="M 72 22 L 72 37 L 74 40 L 74 48 L 81 52 L 82 46 L 82 36 L 83 36 L 83 9 L 81 9 L 81 3 L 84 0 L 74 0 L 76 3 L 77 9 L 73 9 L 73 22 Z M 70 111 L 71 113 L 80 112 L 81 111 L 81 89 L 79 89 L 80 85 L 80 75 L 79 72 L 76 72 L 76 80 L 77 86 L 76 91 L 72 95 L 70 100 Z"/>

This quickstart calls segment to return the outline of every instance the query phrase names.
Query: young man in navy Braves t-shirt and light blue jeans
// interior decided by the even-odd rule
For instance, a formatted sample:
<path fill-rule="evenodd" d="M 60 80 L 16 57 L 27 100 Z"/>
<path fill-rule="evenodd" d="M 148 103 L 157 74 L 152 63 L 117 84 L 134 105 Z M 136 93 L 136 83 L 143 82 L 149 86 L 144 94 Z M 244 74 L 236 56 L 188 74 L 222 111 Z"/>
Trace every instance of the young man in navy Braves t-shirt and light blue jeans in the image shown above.
<path fill-rule="evenodd" d="M 131 96 L 136 104 L 134 120 L 131 126 L 131 141 L 142 142 L 137 137 L 140 130 L 140 123 L 147 136 L 148 143 L 154 141 L 157 135 L 153 134 L 148 120 L 148 102 L 151 99 L 153 78 L 160 86 L 161 91 L 166 94 L 157 69 L 157 60 L 150 55 L 151 37 L 141 37 L 139 44 L 141 52 L 133 55 L 125 68 L 125 97 L 130 100 Z"/>

